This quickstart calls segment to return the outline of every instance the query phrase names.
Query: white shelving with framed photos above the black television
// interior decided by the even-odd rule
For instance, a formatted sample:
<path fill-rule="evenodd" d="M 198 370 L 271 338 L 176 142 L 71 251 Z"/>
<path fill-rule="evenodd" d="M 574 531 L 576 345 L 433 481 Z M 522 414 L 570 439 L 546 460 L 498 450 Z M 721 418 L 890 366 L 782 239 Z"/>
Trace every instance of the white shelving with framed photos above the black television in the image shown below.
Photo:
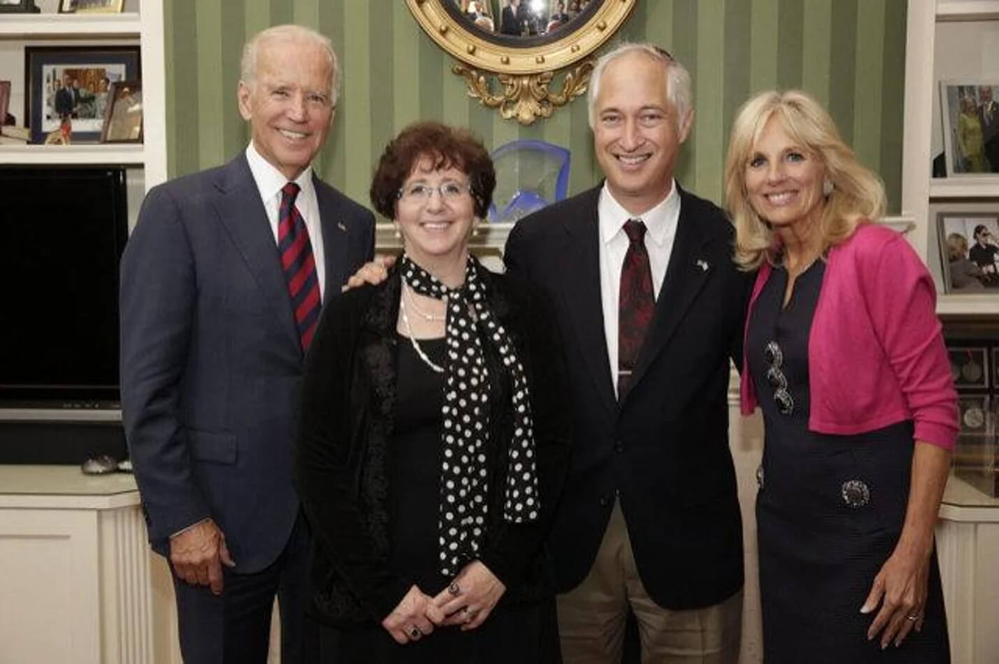
<path fill-rule="evenodd" d="M 129 166 L 146 189 L 166 180 L 163 0 L 34 4 L 40 13 L 0 13 L 0 80 L 10 82 L 6 102 L 16 118 L 16 128 L 2 131 L 0 163 Z M 54 115 L 66 75 L 79 80 L 83 109 L 77 116 L 73 107 L 70 126 Z M 60 143 L 66 132 L 68 146 L 38 145 Z"/>

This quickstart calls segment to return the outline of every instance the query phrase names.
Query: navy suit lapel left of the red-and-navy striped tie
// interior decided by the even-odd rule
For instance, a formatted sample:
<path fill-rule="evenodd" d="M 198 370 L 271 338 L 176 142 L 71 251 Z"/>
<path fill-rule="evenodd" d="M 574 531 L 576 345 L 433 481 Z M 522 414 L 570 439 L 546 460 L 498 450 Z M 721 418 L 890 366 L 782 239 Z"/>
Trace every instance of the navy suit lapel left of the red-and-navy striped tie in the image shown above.
<path fill-rule="evenodd" d="M 302 342 L 292 315 L 278 248 L 245 154 L 222 170 L 216 188 L 220 194 L 215 201 L 219 219 L 250 268 L 265 300 L 274 309 L 275 320 L 301 353 Z"/>

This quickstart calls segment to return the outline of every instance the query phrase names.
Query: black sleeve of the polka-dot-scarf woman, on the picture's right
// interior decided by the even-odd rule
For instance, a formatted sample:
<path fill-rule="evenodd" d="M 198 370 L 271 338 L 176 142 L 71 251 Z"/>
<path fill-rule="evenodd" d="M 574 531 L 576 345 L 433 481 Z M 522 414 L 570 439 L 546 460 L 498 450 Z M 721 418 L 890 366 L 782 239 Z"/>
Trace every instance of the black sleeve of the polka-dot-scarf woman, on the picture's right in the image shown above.
<path fill-rule="evenodd" d="M 524 321 L 529 372 L 530 407 L 534 424 L 535 459 L 541 508 L 529 523 L 500 521 L 490 546 L 480 556 L 507 587 L 520 578 L 548 534 L 568 470 L 571 419 L 565 395 L 568 382 L 554 311 L 535 291 Z"/>

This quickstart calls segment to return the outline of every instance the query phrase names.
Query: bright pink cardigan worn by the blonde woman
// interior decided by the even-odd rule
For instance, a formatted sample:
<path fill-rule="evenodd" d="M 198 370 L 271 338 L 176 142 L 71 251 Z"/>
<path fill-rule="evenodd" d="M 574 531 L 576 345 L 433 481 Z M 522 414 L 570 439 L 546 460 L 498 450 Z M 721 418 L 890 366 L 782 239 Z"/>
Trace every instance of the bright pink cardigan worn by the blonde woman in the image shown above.
<path fill-rule="evenodd" d="M 746 330 L 770 272 L 763 263 Z M 850 435 L 913 420 L 915 440 L 952 449 L 957 392 L 935 306 L 929 272 L 894 230 L 863 223 L 832 247 L 808 337 L 808 429 Z M 740 397 L 742 414 L 752 414 L 745 359 Z"/>

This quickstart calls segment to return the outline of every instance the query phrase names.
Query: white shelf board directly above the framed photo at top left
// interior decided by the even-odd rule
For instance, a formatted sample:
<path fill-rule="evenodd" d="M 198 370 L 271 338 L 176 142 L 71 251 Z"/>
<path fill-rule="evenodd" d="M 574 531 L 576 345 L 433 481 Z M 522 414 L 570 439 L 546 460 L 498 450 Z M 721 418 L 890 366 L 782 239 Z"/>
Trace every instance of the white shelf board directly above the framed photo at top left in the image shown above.
<path fill-rule="evenodd" d="M 125 14 L 4 14 L 0 37 L 73 39 L 78 37 L 138 38 L 142 20 L 138 13 Z"/>

